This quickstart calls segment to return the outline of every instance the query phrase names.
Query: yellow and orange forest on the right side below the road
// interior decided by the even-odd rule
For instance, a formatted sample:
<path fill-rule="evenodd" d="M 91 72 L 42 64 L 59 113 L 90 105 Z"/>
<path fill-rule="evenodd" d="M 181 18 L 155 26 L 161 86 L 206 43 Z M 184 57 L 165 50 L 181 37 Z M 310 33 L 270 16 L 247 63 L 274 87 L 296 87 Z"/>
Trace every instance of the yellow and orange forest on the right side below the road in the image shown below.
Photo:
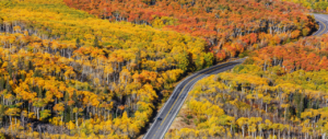
<path fill-rule="evenodd" d="M 250 53 L 199 81 L 166 138 L 321 138 L 328 134 L 327 35 Z M 206 111 L 203 111 L 206 109 Z"/>

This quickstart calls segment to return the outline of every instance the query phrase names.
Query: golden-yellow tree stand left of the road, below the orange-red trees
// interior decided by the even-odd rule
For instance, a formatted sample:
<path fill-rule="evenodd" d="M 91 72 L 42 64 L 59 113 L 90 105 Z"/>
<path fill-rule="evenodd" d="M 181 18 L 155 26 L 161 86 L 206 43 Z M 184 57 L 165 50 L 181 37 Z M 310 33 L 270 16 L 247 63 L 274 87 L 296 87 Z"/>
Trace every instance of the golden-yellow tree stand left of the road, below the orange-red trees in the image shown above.
<path fill-rule="evenodd" d="M 136 138 L 159 95 L 167 97 L 186 71 L 213 63 L 202 38 L 109 23 L 57 0 L 0 3 L 1 125 L 9 135 Z"/>

